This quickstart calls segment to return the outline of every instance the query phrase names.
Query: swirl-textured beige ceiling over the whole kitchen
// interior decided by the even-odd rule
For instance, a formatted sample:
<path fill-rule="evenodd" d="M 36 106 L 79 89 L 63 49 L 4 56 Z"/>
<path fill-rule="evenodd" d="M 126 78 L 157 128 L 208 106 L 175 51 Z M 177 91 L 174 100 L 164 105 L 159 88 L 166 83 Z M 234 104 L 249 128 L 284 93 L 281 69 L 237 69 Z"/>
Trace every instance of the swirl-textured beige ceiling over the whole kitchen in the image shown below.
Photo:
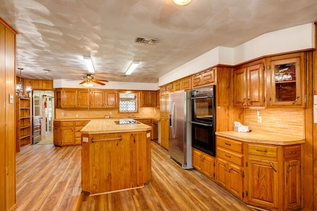
<path fill-rule="evenodd" d="M 317 21 L 317 1 L 0 0 L 0 16 L 19 32 L 16 67 L 24 68 L 23 78 L 81 79 L 83 56 L 91 55 L 96 79 L 157 83 L 216 46 Z M 159 42 L 137 43 L 137 36 Z M 120 77 L 133 60 L 139 67 Z"/>

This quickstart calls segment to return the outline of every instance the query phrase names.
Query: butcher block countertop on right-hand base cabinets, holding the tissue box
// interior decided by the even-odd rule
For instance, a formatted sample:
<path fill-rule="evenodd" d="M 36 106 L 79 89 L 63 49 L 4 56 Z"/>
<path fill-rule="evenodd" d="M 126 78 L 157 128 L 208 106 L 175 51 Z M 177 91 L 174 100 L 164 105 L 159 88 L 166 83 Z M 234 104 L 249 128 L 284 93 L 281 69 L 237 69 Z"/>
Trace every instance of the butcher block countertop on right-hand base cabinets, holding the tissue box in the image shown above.
<path fill-rule="evenodd" d="M 290 137 L 285 135 L 279 135 L 275 133 L 264 132 L 236 132 L 236 131 L 222 131 L 215 132 L 216 135 L 220 135 L 227 138 L 236 139 L 244 142 L 262 143 L 262 144 L 274 144 L 274 145 L 292 145 L 303 144 L 305 139 Z"/>

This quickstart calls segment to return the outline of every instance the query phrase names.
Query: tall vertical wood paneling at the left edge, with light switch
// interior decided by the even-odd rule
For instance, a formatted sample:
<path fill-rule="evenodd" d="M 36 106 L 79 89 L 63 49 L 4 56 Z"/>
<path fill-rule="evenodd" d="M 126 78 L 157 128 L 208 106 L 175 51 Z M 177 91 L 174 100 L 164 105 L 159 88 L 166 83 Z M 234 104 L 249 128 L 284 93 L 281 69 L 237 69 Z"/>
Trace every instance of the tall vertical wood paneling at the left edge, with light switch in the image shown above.
<path fill-rule="evenodd" d="M 0 211 L 15 204 L 15 35 L 0 18 Z M 9 102 L 9 94 L 13 102 Z"/>

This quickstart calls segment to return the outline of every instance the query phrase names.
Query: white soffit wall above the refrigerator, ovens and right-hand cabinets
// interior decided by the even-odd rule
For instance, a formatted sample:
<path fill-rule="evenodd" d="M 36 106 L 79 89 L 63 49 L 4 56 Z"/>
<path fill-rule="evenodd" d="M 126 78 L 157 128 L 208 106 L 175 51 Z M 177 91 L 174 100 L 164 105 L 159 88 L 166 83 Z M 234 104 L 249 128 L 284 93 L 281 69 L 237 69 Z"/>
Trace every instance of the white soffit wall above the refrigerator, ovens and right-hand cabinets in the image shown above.
<path fill-rule="evenodd" d="M 314 23 L 265 33 L 236 47 L 215 47 L 159 78 L 159 85 L 217 64 L 236 65 L 261 56 L 315 47 Z"/>

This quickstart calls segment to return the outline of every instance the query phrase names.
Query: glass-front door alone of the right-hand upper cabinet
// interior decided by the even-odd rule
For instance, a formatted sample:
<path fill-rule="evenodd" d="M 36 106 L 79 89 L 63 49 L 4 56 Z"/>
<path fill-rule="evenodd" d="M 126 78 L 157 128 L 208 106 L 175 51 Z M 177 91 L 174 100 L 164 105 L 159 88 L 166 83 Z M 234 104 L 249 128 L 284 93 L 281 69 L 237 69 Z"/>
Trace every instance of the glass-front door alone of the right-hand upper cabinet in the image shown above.
<path fill-rule="evenodd" d="M 271 61 L 271 105 L 302 105 L 300 62 L 300 57 Z"/>

